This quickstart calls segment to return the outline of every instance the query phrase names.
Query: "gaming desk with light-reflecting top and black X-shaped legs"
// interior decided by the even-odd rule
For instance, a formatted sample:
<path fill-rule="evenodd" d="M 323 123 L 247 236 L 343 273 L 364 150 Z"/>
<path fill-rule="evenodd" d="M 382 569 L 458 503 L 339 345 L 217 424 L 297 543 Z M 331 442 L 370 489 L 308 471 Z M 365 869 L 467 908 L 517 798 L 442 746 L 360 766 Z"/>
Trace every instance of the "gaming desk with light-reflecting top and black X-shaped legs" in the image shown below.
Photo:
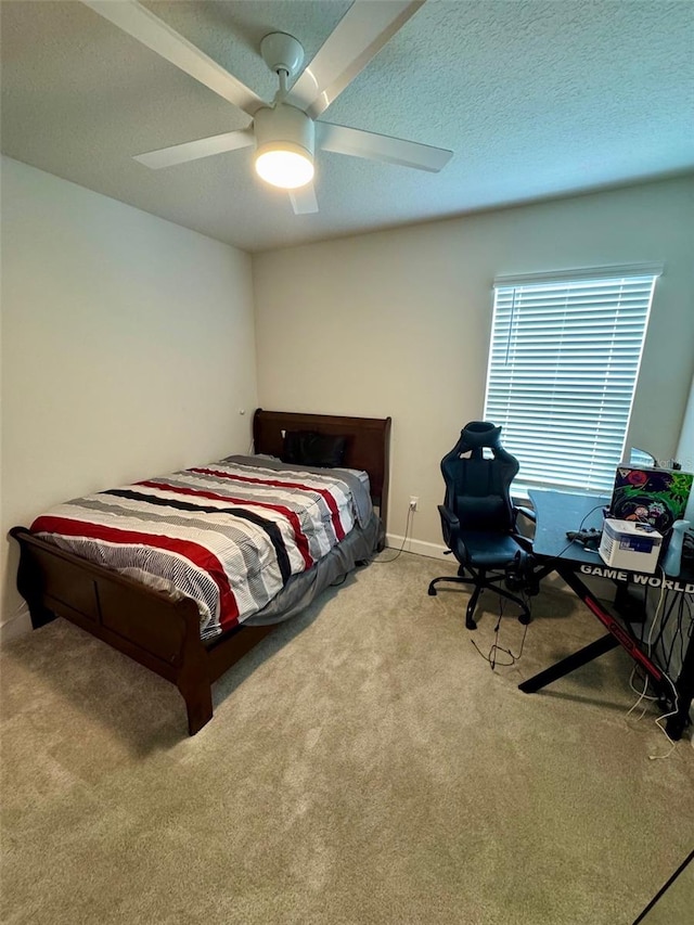
<path fill-rule="evenodd" d="M 534 490 L 530 500 L 535 508 L 537 525 L 532 551 L 538 560 L 539 569 L 536 576 L 542 579 L 555 571 L 569 588 L 580 598 L 586 606 L 594 614 L 607 632 L 591 642 L 579 652 L 557 661 L 555 665 L 540 671 L 519 684 L 525 693 L 536 693 L 553 681 L 587 665 L 600 655 L 611 652 L 618 645 L 637 661 L 647 673 L 654 689 L 672 716 L 666 721 L 666 730 L 672 740 L 681 737 L 689 721 L 689 711 L 694 697 L 694 634 L 692 633 L 691 609 L 687 608 L 690 626 L 683 629 L 686 646 L 683 653 L 682 666 L 677 680 L 666 675 L 666 669 L 658 665 L 655 656 L 648 651 L 643 639 L 640 639 L 632 624 L 643 625 L 644 615 L 640 619 L 633 617 L 619 619 L 607 609 L 606 605 L 591 592 L 586 584 L 590 577 L 607 578 L 621 586 L 657 589 L 666 595 L 687 595 L 694 599 L 694 574 L 681 574 L 677 579 L 666 577 L 660 569 L 655 574 L 633 571 L 631 569 L 613 568 L 605 565 L 597 551 L 583 549 L 579 543 L 567 539 L 567 530 L 579 530 L 594 527 L 602 528 L 603 509 L 609 504 L 609 496 L 578 494 L 567 491 Z"/>

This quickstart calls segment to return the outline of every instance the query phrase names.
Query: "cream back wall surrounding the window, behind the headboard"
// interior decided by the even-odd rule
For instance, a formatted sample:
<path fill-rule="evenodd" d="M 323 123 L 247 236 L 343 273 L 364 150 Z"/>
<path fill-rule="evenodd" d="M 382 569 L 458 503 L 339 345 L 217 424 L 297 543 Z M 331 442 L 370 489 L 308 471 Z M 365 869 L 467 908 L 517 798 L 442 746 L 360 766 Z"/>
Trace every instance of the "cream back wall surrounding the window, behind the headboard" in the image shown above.
<path fill-rule="evenodd" d="M 424 181 L 423 181 L 424 182 Z M 439 461 L 484 407 L 494 275 L 665 265 L 630 441 L 676 452 L 694 370 L 694 178 L 257 255 L 266 408 L 393 416 L 391 540 L 441 549 Z"/>

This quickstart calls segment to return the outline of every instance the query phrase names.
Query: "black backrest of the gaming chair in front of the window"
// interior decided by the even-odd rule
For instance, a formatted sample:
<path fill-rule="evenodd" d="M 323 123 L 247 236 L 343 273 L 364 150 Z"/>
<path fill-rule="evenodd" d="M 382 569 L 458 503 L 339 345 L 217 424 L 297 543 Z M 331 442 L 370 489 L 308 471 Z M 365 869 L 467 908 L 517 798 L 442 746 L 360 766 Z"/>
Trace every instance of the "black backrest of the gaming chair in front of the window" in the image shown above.
<path fill-rule="evenodd" d="M 485 458 L 484 450 L 491 452 Z M 501 427 L 471 421 L 460 440 L 441 460 L 445 504 L 463 530 L 509 532 L 513 527 L 511 483 L 519 465 L 501 446 Z"/>

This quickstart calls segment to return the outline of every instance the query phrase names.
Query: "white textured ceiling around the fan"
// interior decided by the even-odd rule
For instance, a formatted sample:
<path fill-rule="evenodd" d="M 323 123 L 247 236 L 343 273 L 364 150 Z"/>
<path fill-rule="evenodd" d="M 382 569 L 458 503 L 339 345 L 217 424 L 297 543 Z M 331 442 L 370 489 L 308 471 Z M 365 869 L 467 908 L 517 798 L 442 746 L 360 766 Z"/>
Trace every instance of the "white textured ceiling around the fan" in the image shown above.
<path fill-rule="evenodd" d="M 310 61 L 349 0 L 145 5 L 271 100 L 260 39 L 287 31 Z M 453 158 L 433 175 L 320 152 L 304 216 L 248 149 L 134 162 L 249 119 L 87 7 L 0 16 L 4 154 L 249 252 L 694 170 L 690 0 L 428 0 L 323 118 Z"/>

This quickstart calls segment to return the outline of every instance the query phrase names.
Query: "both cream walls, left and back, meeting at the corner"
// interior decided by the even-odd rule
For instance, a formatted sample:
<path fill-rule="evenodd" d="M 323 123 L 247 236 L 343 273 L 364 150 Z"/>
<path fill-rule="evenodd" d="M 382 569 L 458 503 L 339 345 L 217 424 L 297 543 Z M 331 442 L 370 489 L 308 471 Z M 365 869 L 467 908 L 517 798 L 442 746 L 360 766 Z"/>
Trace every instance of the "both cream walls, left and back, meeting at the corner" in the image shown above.
<path fill-rule="evenodd" d="M 481 414 L 502 273 L 664 262 L 630 440 L 672 457 L 694 373 L 693 204 L 690 177 L 252 261 L 3 158 L 2 536 L 66 498 L 244 450 L 259 403 L 390 414 L 391 539 L 417 494 L 411 548 L 438 554 L 438 464 Z M 7 630 L 23 614 L 7 540 L 1 568 Z"/>

